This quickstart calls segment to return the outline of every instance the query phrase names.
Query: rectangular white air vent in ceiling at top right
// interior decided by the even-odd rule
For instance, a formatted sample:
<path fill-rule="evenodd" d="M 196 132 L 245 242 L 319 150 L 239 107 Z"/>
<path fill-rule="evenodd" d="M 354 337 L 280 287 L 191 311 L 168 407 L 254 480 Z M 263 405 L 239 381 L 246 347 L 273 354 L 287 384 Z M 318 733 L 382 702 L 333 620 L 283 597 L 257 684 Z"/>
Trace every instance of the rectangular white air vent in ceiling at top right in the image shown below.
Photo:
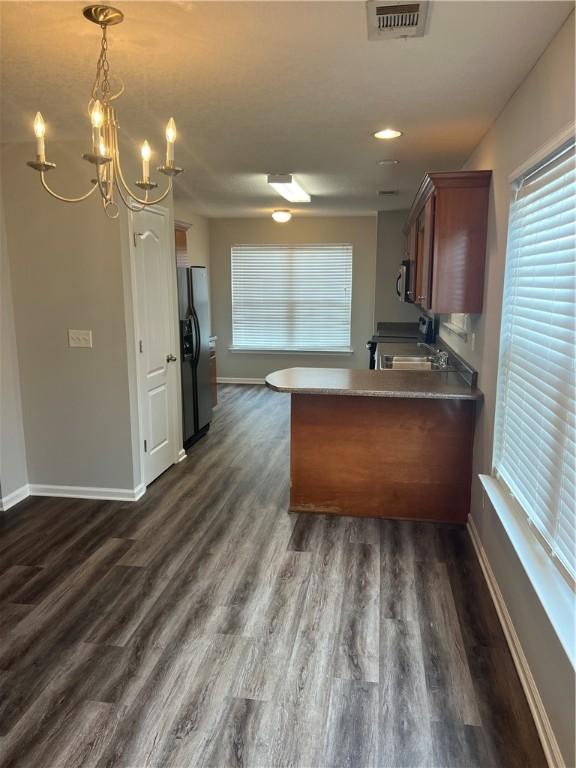
<path fill-rule="evenodd" d="M 368 0 L 368 39 L 422 37 L 428 16 L 428 0 Z"/>

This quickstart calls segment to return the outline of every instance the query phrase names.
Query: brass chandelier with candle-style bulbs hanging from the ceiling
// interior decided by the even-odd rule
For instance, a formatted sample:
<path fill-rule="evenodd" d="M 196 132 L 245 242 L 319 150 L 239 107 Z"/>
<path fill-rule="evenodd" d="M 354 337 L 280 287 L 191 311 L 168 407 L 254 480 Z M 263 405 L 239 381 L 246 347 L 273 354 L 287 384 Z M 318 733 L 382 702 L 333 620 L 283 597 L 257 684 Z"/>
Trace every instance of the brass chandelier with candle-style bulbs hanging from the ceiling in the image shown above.
<path fill-rule="evenodd" d="M 102 30 L 102 41 L 100 47 L 100 56 L 96 65 L 96 77 L 92 86 L 92 94 L 88 103 L 88 114 L 92 125 L 92 146 L 91 151 L 82 155 L 83 159 L 95 167 L 95 178 L 91 180 L 92 187 L 86 194 L 80 197 L 64 197 L 52 190 L 47 182 L 45 174 L 56 167 L 55 163 L 46 160 L 45 133 L 46 127 L 44 119 L 40 112 L 36 113 L 34 119 L 34 134 L 36 135 L 36 160 L 31 160 L 27 164 L 38 171 L 40 181 L 44 189 L 52 197 L 61 200 L 64 203 L 80 203 L 86 200 L 96 190 L 99 191 L 102 198 L 102 205 L 106 215 L 115 219 L 119 214 L 119 205 L 116 202 L 115 195 L 131 211 L 141 211 L 145 206 L 155 205 L 161 202 L 172 190 L 172 178 L 182 173 L 182 168 L 174 165 L 174 142 L 176 141 L 176 125 L 171 117 L 166 126 L 166 159 L 164 165 L 157 170 L 159 173 L 168 177 L 168 186 L 161 195 L 151 198 L 150 192 L 156 189 L 158 184 L 150 180 L 150 157 L 151 149 L 147 141 L 144 142 L 140 150 L 142 157 L 142 178 L 134 182 L 136 186 L 143 190 L 143 194 L 138 194 L 130 189 L 125 181 L 120 164 L 120 147 L 118 143 L 118 119 L 116 110 L 112 106 L 115 99 L 124 91 L 124 86 L 116 92 L 112 92 L 110 85 L 110 65 L 108 63 L 108 40 L 107 30 L 109 26 L 120 24 L 124 19 L 124 14 L 117 8 L 108 5 L 88 5 L 82 12 L 88 21 L 92 21 L 100 26 Z"/>

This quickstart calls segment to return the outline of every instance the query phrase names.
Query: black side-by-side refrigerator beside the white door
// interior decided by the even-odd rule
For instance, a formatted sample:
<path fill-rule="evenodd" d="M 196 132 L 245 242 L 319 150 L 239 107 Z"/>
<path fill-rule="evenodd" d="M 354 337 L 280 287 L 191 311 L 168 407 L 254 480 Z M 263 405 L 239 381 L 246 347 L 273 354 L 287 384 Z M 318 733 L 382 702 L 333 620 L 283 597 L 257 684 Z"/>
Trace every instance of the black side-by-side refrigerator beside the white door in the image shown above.
<path fill-rule="evenodd" d="M 209 304 L 206 267 L 179 267 L 180 361 L 182 369 L 182 432 L 189 448 L 210 427 Z"/>

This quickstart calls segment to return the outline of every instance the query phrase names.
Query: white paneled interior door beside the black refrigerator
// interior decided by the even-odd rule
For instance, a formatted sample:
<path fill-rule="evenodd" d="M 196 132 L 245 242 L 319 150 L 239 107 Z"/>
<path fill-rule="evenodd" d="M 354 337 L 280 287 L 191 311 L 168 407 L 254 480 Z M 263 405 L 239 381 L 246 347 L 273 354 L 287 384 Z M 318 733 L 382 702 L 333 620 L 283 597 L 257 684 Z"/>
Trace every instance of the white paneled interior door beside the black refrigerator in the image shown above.
<path fill-rule="evenodd" d="M 175 296 L 169 217 L 164 209 L 133 216 L 138 386 L 146 485 L 176 460 L 178 350 L 173 325 Z"/>

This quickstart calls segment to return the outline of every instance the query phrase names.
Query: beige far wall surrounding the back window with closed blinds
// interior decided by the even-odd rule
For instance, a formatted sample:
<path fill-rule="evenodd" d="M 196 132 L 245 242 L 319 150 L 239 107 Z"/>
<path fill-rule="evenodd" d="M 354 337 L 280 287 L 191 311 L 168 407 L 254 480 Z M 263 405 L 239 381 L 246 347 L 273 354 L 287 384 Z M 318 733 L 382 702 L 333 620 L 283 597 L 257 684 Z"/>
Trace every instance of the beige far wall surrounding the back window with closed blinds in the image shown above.
<path fill-rule="evenodd" d="M 352 347 L 349 355 L 248 354 L 230 352 L 232 312 L 230 249 L 236 243 L 352 243 Z M 376 217 L 298 218 L 288 224 L 266 219 L 211 219 L 212 328 L 218 336 L 218 375 L 262 378 L 293 366 L 366 368 L 365 345 L 374 322 Z"/>

